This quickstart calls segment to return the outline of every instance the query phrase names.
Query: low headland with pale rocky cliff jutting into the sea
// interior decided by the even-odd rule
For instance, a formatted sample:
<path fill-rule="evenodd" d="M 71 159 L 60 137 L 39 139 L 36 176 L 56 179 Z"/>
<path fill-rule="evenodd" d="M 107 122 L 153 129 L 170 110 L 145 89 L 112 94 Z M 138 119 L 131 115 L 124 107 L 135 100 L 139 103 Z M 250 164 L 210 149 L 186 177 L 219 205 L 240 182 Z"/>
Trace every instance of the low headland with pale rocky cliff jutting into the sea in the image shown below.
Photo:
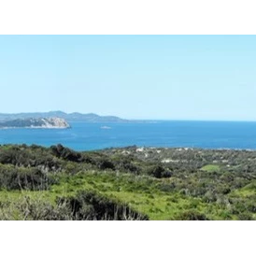
<path fill-rule="evenodd" d="M 17 119 L 11 121 L 0 121 L 0 129 L 11 128 L 41 128 L 41 129 L 66 129 L 70 124 L 61 118 L 39 118 L 39 119 Z"/>

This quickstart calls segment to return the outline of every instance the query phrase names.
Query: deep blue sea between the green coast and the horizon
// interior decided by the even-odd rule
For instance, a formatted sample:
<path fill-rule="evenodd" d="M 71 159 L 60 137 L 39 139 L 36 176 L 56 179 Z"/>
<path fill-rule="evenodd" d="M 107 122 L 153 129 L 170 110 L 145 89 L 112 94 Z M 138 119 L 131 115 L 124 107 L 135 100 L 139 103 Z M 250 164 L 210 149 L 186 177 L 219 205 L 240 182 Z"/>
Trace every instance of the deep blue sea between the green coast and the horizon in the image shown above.
<path fill-rule="evenodd" d="M 153 123 L 71 122 L 72 129 L 0 130 L 0 144 L 58 143 L 76 150 L 111 147 L 256 149 L 256 122 L 156 121 Z M 104 126 L 111 129 L 103 129 Z M 106 128 L 106 127 L 105 127 Z"/>

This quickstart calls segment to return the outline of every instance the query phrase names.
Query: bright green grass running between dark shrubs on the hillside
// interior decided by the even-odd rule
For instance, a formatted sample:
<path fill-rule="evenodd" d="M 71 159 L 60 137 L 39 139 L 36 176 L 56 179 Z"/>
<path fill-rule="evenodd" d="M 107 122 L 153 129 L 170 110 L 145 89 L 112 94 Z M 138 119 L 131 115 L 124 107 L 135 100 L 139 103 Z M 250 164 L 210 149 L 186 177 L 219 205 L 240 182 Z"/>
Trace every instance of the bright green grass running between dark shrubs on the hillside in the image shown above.
<path fill-rule="evenodd" d="M 54 205 L 59 197 L 75 196 L 79 191 L 86 190 L 126 203 L 132 209 L 149 216 L 149 220 L 176 220 L 186 211 L 205 214 L 209 220 L 236 220 L 235 215 L 216 202 L 206 203 L 199 197 L 162 190 L 172 182 L 172 178 L 86 171 L 76 175 L 59 174 L 58 179 L 59 183 L 52 185 L 49 191 L 1 191 L 0 202 L 17 203 L 24 196 L 30 196 Z M 255 192 L 255 184 L 236 191 L 239 194 L 246 192 Z"/>

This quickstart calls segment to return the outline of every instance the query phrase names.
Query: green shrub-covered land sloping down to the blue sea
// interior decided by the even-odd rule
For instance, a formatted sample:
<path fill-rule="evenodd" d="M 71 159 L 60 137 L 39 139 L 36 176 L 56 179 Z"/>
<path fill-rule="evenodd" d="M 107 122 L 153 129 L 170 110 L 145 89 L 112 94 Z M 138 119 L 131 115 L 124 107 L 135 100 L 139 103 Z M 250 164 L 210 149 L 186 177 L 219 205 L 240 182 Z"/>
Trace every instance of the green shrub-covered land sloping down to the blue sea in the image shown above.
<path fill-rule="evenodd" d="M 0 147 L 0 220 L 256 220 L 256 151 Z"/>

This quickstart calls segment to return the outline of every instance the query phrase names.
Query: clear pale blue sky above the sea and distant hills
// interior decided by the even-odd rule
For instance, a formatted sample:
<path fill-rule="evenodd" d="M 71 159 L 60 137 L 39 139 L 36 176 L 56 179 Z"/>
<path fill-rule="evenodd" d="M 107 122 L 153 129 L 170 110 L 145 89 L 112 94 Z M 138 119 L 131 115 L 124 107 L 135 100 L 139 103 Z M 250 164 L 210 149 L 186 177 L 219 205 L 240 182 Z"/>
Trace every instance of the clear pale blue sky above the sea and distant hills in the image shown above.
<path fill-rule="evenodd" d="M 256 121 L 256 36 L 0 36 L 0 112 Z"/>

